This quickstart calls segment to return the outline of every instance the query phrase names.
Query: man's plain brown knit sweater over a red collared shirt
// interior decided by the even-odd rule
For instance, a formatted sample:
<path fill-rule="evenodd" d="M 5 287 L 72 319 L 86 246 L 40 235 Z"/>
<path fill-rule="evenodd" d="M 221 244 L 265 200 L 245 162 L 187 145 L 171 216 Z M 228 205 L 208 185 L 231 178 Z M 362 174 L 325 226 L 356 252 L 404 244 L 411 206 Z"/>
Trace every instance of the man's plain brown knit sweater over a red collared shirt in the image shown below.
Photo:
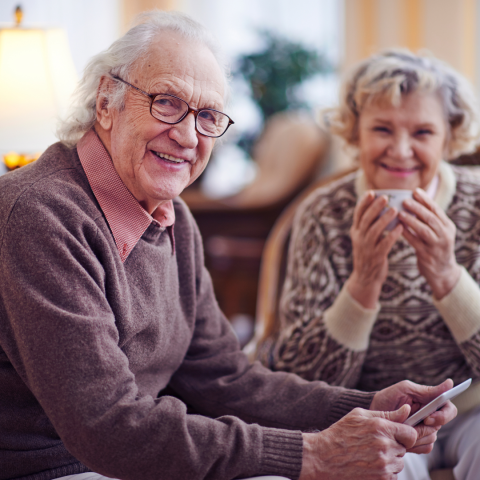
<path fill-rule="evenodd" d="M 368 408 L 248 363 L 174 206 L 176 253 L 152 224 L 122 263 L 75 149 L 0 178 L 0 479 L 295 479 L 299 429 Z"/>

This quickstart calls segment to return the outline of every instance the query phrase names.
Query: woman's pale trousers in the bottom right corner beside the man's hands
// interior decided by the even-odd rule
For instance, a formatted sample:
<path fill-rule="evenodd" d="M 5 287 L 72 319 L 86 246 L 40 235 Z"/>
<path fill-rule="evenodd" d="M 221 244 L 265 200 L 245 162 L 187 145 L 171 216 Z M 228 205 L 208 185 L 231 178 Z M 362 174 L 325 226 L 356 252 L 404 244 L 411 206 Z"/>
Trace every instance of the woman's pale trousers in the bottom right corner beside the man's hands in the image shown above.
<path fill-rule="evenodd" d="M 430 480 L 429 470 L 453 468 L 456 480 L 480 478 L 480 407 L 459 415 L 438 432 L 428 455 L 407 453 L 398 480 Z"/>

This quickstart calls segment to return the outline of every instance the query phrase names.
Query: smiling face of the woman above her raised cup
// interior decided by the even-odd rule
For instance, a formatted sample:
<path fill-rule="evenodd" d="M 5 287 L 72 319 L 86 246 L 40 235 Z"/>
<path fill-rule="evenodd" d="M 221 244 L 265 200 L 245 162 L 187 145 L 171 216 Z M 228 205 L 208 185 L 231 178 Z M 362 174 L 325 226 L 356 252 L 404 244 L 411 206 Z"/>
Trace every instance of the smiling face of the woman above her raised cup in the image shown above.
<path fill-rule="evenodd" d="M 447 122 L 437 95 L 405 95 L 398 106 L 368 105 L 360 113 L 358 149 L 374 189 L 427 188 L 445 155 Z"/>

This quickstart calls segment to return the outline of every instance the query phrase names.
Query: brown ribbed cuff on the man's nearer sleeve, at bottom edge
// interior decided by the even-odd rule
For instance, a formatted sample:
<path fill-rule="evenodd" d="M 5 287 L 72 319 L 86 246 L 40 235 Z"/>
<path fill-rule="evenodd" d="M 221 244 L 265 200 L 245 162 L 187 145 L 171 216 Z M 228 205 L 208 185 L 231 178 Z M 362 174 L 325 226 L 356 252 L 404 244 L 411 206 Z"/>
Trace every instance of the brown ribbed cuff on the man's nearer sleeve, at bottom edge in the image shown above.
<path fill-rule="evenodd" d="M 261 475 L 297 480 L 302 470 L 303 438 L 298 431 L 263 428 Z"/>

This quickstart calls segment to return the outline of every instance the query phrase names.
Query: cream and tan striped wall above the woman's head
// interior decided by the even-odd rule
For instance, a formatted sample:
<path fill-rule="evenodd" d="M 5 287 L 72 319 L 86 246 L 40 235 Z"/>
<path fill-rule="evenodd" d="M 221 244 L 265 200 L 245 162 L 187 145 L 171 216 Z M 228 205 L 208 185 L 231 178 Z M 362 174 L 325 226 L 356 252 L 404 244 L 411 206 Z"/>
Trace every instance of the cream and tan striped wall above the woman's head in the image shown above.
<path fill-rule="evenodd" d="M 430 50 L 475 82 L 478 0 L 345 0 L 345 61 L 388 47 Z"/>

